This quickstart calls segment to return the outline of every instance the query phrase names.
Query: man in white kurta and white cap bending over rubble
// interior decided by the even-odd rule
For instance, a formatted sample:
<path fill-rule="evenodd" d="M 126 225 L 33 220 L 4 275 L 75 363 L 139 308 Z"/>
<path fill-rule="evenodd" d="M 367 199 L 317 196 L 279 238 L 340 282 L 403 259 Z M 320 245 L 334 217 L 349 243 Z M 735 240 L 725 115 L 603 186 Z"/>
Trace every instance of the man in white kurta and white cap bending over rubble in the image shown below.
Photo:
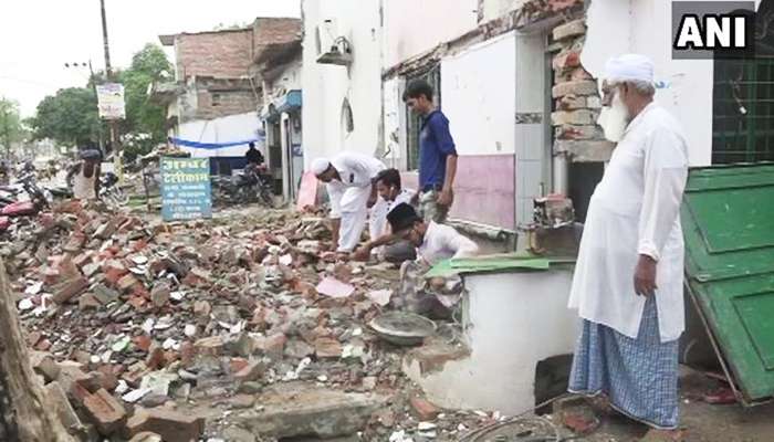
<path fill-rule="evenodd" d="M 386 204 L 377 197 L 374 182 L 385 168 L 378 159 L 353 151 L 343 151 L 331 160 L 317 158 L 312 162 L 314 175 L 327 185 L 333 242 L 338 245 L 337 252 L 351 253 L 355 249 L 368 218 L 372 238 L 384 232 L 384 217 L 369 217 L 368 211 L 378 213 Z"/>

